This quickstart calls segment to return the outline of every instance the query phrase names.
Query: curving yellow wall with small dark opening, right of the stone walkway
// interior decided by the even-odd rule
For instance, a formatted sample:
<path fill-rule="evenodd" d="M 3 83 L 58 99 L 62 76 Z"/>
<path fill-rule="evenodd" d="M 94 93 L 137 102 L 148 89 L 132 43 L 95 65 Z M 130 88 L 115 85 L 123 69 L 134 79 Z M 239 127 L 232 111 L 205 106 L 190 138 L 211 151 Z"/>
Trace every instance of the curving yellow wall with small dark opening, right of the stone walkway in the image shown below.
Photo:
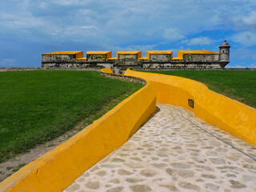
<path fill-rule="evenodd" d="M 256 110 L 241 102 L 214 93 L 207 86 L 188 78 L 126 70 L 125 75 L 150 82 L 157 102 L 182 106 L 218 128 L 256 145 Z M 194 108 L 188 99 L 194 100 Z"/>

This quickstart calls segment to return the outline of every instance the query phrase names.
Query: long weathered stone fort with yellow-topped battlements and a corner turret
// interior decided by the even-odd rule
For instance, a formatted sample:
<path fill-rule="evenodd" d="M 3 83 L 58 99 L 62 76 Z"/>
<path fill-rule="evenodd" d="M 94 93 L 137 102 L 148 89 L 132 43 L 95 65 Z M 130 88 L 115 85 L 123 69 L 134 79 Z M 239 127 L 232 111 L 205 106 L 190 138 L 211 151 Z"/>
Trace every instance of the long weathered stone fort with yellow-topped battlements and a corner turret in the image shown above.
<path fill-rule="evenodd" d="M 127 68 L 134 70 L 170 69 L 224 69 L 230 62 L 230 45 L 222 42 L 219 53 L 210 50 L 178 50 L 173 58 L 172 50 L 148 50 L 146 58 L 142 51 L 117 51 L 112 58 L 111 51 L 58 51 L 42 54 L 43 69 L 87 69 L 100 70 L 109 67 L 115 74 L 122 74 Z"/>

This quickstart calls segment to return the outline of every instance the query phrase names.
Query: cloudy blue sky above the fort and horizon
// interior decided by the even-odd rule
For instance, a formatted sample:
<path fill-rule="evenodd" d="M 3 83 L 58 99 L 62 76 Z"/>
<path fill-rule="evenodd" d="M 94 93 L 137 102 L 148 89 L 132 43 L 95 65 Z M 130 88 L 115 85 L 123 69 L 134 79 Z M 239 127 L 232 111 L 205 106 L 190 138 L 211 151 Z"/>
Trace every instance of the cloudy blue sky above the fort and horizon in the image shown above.
<path fill-rule="evenodd" d="M 0 67 L 59 50 L 212 50 L 256 67 L 255 0 L 0 0 Z"/>

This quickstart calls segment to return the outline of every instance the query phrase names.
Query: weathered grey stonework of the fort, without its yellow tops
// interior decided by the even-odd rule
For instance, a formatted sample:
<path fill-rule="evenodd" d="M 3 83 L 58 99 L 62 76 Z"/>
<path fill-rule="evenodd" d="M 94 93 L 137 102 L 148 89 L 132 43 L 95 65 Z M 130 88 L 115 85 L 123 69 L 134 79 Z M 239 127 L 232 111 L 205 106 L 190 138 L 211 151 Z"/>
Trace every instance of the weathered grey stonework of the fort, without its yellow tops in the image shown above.
<path fill-rule="evenodd" d="M 122 52 L 116 59 L 107 59 L 106 54 L 88 54 L 87 59 L 76 59 L 75 54 L 42 54 L 42 68 L 111 67 L 113 70 L 118 68 L 121 71 L 128 67 L 148 70 L 224 69 L 229 63 L 229 51 L 226 49 L 229 50 L 229 48 L 220 46 L 219 54 L 184 54 L 182 59 L 172 59 L 171 54 L 150 54 L 150 58 L 138 58 L 141 57 L 141 52 L 139 55 Z"/>

